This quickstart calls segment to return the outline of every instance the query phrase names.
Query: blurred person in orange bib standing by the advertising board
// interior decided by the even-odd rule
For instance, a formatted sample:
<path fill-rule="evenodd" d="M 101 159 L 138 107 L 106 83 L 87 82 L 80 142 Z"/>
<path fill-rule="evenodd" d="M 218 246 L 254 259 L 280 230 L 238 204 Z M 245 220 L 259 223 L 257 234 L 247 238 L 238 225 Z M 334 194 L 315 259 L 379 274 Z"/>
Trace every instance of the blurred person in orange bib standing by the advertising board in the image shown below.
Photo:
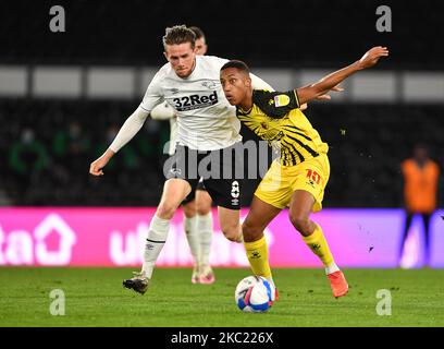
<path fill-rule="evenodd" d="M 414 148 L 414 156 L 400 165 L 404 177 L 404 204 L 406 220 L 399 249 L 399 263 L 404 253 L 404 245 L 416 214 L 422 217 L 425 233 L 425 265 L 430 263 L 430 218 L 436 208 L 437 181 L 440 168 L 429 158 L 428 148 L 418 144 Z"/>

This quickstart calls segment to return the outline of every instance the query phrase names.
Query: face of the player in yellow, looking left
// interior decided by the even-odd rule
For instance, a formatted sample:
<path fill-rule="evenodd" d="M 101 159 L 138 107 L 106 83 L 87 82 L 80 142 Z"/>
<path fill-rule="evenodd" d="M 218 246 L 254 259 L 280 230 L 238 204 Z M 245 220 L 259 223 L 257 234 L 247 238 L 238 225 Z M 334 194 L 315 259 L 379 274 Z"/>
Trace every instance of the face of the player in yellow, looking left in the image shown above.
<path fill-rule="evenodd" d="M 251 88 L 249 76 L 236 68 L 224 69 L 221 72 L 221 84 L 225 97 L 232 106 L 243 104 Z"/>

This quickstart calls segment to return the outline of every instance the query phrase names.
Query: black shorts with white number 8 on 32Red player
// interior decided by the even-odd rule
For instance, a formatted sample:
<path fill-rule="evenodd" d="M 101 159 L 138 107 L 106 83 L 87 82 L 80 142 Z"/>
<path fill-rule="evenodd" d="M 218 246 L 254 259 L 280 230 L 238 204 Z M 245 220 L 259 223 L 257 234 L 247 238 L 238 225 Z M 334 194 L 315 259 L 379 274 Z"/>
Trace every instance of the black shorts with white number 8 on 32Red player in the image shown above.
<path fill-rule="evenodd" d="M 181 178 L 192 185 L 192 193 L 202 185 L 215 205 L 240 209 L 244 182 L 242 143 L 220 151 L 194 151 L 186 146 L 176 146 L 175 154 L 165 164 L 165 177 Z"/>

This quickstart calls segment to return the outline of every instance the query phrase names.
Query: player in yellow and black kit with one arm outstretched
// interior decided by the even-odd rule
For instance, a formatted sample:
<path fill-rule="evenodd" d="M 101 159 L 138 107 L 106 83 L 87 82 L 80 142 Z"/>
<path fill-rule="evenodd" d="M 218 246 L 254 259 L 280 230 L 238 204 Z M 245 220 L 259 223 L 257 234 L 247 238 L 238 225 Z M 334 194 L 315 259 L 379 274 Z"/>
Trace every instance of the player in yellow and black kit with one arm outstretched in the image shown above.
<path fill-rule="evenodd" d="M 285 207 L 289 220 L 310 250 L 322 261 L 334 297 L 345 296 L 348 285 L 334 262 L 321 227 L 310 219 L 322 209 L 324 189 L 330 176 L 322 142 L 299 107 L 323 96 L 349 75 L 373 67 L 388 56 L 385 47 L 373 47 L 355 63 L 319 82 L 286 93 L 257 91 L 251 87 L 248 67 L 230 61 L 221 68 L 221 83 L 226 99 L 237 107 L 237 118 L 270 146 L 281 152 L 255 192 L 243 224 L 244 243 L 251 269 L 274 285 L 268 261 L 264 228 Z M 278 297 L 276 297 L 278 299 Z"/>

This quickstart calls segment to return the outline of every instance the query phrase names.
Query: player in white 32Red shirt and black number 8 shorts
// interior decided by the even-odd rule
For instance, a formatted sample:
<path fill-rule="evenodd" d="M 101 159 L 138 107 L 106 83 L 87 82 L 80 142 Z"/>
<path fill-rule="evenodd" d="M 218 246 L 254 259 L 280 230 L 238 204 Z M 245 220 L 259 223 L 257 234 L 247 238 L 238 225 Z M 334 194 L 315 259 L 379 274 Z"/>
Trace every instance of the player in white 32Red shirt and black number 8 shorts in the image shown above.
<path fill-rule="evenodd" d="M 184 25 L 166 28 L 163 46 L 169 63 L 155 75 L 140 106 L 126 119 L 110 147 L 89 169 L 92 176 L 102 176 L 102 168 L 136 135 L 157 105 L 166 101 L 173 107 L 177 116 L 177 160 L 168 171 L 160 204 L 150 222 L 141 270 L 123 281 L 124 287 L 141 294 L 148 289 L 156 261 L 168 237 L 171 218 L 199 181 L 200 176 L 193 174 L 197 171 L 196 165 L 207 155 L 233 154 L 242 146 L 240 123 L 235 107 L 226 100 L 219 79 L 220 69 L 227 60 L 196 56 L 195 34 Z M 255 88 L 272 91 L 257 76 L 252 75 L 251 80 Z M 195 157 L 198 163 L 192 164 L 190 159 Z M 236 155 L 230 165 L 224 165 L 225 156 L 220 156 L 220 170 L 224 171 L 227 166 L 236 167 L 238 160 Z M 232 173 L 236 172 L 236 169 L 230 169 Z M 219 222 L 225 238 L 242 242 L 242 179 L 235 177 L 205 177 L 203 183 L 218 205 Z"/>

